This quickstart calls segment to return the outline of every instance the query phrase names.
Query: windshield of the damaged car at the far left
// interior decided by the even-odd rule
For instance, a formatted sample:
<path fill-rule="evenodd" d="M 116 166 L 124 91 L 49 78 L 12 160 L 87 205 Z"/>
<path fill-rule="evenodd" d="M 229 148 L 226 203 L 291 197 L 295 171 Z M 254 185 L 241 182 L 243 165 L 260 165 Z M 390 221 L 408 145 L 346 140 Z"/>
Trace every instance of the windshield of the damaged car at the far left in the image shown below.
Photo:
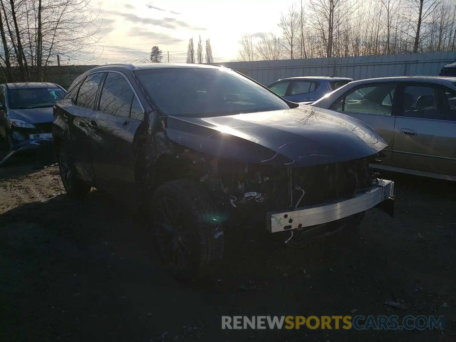
<path fill-rule="evenodd" d="M 52 107 L 65 95 L 62 88 L 10 89 L 8 104 L 10 109 L 31 109 Z"/>

